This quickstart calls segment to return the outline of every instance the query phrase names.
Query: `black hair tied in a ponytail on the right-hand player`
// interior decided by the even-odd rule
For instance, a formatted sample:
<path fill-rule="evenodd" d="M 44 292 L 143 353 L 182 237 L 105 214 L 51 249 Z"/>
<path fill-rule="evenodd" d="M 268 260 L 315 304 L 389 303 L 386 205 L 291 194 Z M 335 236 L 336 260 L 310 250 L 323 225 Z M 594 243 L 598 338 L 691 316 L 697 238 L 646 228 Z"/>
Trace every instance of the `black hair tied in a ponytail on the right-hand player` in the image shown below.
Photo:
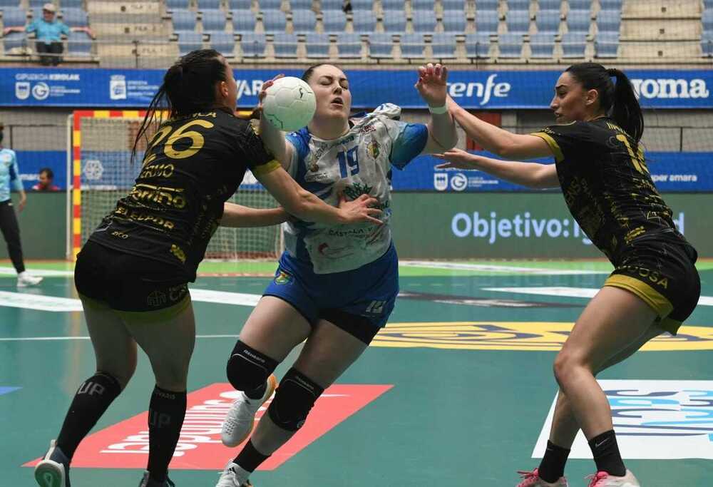
<path fill-rule="evenodd" d="M 585 90 L 596 90 L 599 103 L 637 143 L 644 134 L 644 116 L 629 78 L 619 69 L 606 69 L 599 63 L 578 63 L 567 68 Z M 616 79 L 616 83 L 612 82 Z"/>

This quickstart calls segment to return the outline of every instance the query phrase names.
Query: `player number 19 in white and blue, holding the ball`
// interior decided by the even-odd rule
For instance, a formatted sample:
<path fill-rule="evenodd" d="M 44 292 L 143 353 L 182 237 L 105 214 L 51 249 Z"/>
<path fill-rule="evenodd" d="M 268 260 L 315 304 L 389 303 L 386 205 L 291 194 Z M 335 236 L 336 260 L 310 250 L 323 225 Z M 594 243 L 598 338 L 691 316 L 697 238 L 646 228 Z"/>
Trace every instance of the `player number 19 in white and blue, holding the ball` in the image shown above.
<path fill-rule="evenodd" d="M 321 225 L 292 220 L 275 280 L 247 319 L 227 363 L 242 391 L 222 428 L 227 446 L 242 443 L 255 413 L 277 386 L 272 371 L 298 344 L 297 362 L 282 378 L 267 413 L 217 487 L 238 487 L 304 424 L 314 402 L 369 345 L 394 308 L 398 260 L 391 242 L 391 168 L 422 153 L 456 145 L 446 110 L 447 70 L 421 66 L 416 89 L 432 113 L 427 125 L 399 121 L 384 104 L 350 118 L 352 94 L 341 69 L 312 66 L 302 79 L 317 98 L 306 128 L 285 135 L 262 119 L 260 133 L 299 185 L 331 205 L 368 194 L 379 200 L 382 225 Z M 263 86 L 265 89 L 272 82 Z"/>

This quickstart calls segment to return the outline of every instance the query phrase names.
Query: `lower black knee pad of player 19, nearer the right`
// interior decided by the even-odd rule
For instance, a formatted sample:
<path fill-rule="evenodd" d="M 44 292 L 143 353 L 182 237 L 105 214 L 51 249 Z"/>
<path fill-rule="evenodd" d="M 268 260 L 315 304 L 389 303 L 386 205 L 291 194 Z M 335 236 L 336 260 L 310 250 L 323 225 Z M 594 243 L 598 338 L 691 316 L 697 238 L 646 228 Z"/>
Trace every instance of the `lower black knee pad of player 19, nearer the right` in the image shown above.
<path fill-rule="evenodd" d="M 297 431 L 302 428 L 314 401 L 324 389 L 297 369 L 289 369 L 279 381 L 275 398 L 272 399 L 267 414 L 282 429 Z"/>

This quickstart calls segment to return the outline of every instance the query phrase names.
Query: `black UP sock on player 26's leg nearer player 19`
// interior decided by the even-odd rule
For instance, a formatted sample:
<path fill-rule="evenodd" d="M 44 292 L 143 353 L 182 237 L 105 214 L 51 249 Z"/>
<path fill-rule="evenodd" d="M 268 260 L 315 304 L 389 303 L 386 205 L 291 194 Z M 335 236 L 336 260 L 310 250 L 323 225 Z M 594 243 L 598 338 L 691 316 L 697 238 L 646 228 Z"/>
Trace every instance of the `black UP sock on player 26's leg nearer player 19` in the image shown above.
<path fill-rule="evenodd" d="M 166 391 L 155 386 L 148 409 L 148 470 L 157 482 L 166 480 L 168 463 L 178 444 L 185 418 L 185 391 Z"/>

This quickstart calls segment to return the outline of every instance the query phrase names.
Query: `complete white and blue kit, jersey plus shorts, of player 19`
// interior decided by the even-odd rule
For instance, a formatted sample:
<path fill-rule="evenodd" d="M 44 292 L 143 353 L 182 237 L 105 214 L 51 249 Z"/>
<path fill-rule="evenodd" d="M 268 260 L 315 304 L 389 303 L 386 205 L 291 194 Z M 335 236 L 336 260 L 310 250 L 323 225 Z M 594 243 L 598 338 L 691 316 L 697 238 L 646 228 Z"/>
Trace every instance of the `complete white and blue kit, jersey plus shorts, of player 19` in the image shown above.
<path fill-rule="evenodd" d="M 399 294 L 389 227 L 391 167 L 404 168 L 429 138 L 426 125 L 398 121 L 400 114 L 398 106 L 379 106 L 335 140 L 307 128 L 287 135 L 294 147 L 289 173 L 302 188 L 333 206 L 341 193 L 348 200 L 371 195 L 384 210 L 384 225 L 284 224 L 287 250 L 264 293 L 292 304 L 311 324 L 326 319 L 367 344 Z"/>

